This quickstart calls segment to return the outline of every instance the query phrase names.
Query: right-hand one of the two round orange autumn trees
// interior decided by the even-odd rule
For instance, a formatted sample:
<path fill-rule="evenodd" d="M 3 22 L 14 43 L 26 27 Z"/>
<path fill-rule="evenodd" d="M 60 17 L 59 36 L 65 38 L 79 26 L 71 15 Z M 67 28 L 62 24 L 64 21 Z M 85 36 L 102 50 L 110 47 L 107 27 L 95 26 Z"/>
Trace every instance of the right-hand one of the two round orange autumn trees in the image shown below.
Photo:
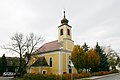
<path fill-rule="evenodd" d="M 100 56 L 94 49 L 90 49 L 86 54 L 88 69 L 93 72 L 94 68 L 100 64 Z"/>

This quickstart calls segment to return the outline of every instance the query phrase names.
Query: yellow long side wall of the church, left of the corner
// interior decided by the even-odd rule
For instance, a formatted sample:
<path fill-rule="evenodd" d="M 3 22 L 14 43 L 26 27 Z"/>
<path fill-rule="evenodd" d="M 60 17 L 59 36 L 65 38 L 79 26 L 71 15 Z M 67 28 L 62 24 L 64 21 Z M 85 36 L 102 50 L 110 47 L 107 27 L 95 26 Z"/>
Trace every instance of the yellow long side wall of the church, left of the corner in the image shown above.
<path fill-rule="evenodd" d="M 30 64 L 33 64 L 37 60 L 37 58 L 35 58 L 35 57 L 39 58 L 40 56 L 41 55 L 36 55 L 36 56 L 32 57 Z M 45 53 L 42 56 L 45 57 L 48 65 L 49 65 L 50 57 L 52 58 L 52 67 L 49 67 L 48 73 L 59 74 L 59 52 Z M 46 69 L 47 68 L 45 68 L 45 70 Z M 39 71 L 38 67 L 31 67 L 31 73 L 38 73 L 38 71 Z"/>

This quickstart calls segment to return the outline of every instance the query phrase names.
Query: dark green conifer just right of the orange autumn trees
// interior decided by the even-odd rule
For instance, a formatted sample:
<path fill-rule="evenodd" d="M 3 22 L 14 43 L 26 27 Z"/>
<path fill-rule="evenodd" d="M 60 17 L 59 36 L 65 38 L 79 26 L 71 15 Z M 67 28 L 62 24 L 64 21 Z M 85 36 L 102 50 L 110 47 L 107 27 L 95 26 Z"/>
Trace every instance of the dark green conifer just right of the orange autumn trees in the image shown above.
<path fill-rule="evenodd" d="M 94 71 L 109 71 L 109 63 L 107 61 L 107 54 L 104 49 L 98 45 L 98 42 L 95 46 L 95 51 L 100 56 L 100 64 L 97 66 Z"/>

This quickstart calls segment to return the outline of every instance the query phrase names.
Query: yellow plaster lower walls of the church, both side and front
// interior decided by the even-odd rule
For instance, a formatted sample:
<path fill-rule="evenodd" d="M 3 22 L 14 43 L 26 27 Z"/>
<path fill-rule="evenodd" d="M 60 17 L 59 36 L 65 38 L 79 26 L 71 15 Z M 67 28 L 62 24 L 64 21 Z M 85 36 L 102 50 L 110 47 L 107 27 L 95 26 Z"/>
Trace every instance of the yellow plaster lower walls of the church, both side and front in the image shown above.
<path fill-rule="evenodd" d="M 54 52 L 54 53 L 46 53 L 42 56 L 45 57 L 48 65 L 49 65 L 49 59 L 50 57 L 52 57 L 52 67 L 31 67 L 30 72 L 34 73 L 34 74 L 38 74 L 41 73 L 41 69 L 42 71 L 47 71 L 47 74 L 59 74 L 59 51 L 58 52 Z M 66 52 L 62 52 L 62 68 L 63 68 L 63 73 L 68 73 L 68 64 L 69 64 L 69 60 L 70 60 L 70 56 L 71 54 L 66 54 Z M 73 73 L 77 73 L 75 68 L 73 69 Z"/>

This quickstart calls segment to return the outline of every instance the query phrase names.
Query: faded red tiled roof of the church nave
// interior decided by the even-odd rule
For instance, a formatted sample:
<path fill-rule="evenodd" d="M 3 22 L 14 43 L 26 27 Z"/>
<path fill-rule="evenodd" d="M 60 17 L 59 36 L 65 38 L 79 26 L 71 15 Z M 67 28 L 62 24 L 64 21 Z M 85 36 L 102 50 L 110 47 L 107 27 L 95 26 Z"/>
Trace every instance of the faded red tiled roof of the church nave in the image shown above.
<path fill-rule="evenodd" d="M 60 44 L 58 43 L 58 40 L 45 43 L 43 46 L 41 46 L 39 49 L 37 49 L 34 53 L 40 53 L 40 52 L 47 52 L 47 51 L 53 51 L 60 49 Z"/>

